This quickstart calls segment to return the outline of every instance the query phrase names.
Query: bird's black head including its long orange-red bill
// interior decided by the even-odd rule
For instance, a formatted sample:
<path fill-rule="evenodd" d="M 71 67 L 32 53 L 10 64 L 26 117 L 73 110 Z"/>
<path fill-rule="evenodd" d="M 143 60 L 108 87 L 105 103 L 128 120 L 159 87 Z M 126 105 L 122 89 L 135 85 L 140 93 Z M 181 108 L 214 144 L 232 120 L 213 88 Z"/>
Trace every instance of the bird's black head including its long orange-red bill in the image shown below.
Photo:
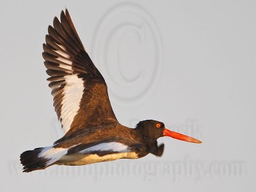
<path fill-rule="evenodd" d="M 170 136 L 177 140 L 188 141 L 192 143 L 202 143 L 195 138 L 180 134 L 179 132 L 170 131 L 166 129 L 163 122 L 159 122 L 156 120 L 141 121 L 136 125 L 136 130 L 140 131 L 140 133 L 143 135 L 144 140 L 148 143 L 154 142 L 158 138 L 161 138 L 163 136 Z"/>

